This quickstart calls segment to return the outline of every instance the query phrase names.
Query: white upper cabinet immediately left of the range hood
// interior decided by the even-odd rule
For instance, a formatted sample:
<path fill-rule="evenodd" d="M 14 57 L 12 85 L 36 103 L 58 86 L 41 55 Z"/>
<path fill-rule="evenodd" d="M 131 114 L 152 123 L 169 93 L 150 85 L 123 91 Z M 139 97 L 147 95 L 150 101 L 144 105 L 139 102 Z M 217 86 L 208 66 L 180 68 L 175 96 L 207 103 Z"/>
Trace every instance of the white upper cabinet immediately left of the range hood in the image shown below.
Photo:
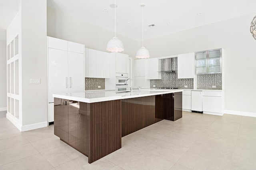
<path fill-rule="evenodd" d="M 146 59 L 146 79 L 161 79 L 161 60 L 157 58 Z"/>

